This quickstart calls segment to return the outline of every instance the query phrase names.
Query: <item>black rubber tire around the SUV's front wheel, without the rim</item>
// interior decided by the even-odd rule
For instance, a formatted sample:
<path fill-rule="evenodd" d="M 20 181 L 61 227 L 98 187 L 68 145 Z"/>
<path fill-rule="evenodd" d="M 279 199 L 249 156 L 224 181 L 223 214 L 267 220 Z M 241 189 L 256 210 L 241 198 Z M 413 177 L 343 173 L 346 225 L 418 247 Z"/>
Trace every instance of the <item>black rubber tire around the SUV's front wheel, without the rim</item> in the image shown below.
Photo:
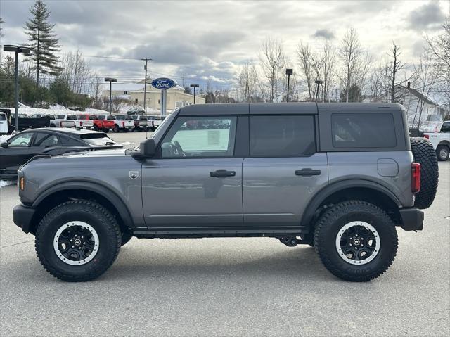
<path fill-rule="evenodd" d="M 100 214 L 98 214 L 100 213 Z M 100 215 L 100 217 L 99 217 Z M 98 251 L 95 257 L 84 265 L 68 265 L 60 260 L 56 255 L 53 248 L 53 239 L 56 231 L 60 229 L 63 224 L 72 221 L 82 221 L 89 224 L 95 229 L 98 235 Z M 58 272 L 65 274 L 66 276 L 80 276 L 87 274 L 96 274 L 98 270 L 102 270 L 109 267 L 109 261 L 114 259 L 115 252 L 117 250 L 117 237 L 114 235 L 114 231 L 110 230 L 111 224 L 108 224 L 101 212 L 96 210 L 67 210 L 54 217 L 46 224 L 43 231 L 37 236 L 37 245 L 41 253 L 41 258 L 56 269 Z M 108 230 L 109 229 L 109 230 Z"/>

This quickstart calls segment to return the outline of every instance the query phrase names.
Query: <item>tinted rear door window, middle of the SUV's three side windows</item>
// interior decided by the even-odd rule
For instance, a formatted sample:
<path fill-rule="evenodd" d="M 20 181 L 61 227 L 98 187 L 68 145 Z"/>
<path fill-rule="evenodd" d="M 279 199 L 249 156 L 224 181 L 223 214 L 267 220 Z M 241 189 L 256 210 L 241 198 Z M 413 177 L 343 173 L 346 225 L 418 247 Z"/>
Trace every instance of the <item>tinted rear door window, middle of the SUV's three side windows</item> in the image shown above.
<path fill-rule="evenodd" d="M 316 151 L 312 116 L 250 117 L 250 155 L 297 157 Z"/>

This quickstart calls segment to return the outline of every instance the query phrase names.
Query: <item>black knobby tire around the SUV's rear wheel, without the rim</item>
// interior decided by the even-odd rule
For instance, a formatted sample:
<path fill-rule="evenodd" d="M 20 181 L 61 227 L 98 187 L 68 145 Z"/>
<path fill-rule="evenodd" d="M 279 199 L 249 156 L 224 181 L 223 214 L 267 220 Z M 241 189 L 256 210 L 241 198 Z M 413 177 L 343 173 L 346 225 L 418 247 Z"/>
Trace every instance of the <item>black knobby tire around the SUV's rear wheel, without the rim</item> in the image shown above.
<path fill-rule="evenodd" d="M 343 260 L 335 241 L 345 224 L 363 221 L 371 224 L 380 235 L 380 250 L 370 262 L 353 265 Z M 316 223 L 314 248 L 323 265 L 345 281 L 370 281 L 383 274 L 397 255 L 398 238 L 392 219 L 377 206 L 365 201 L 345 201 L 328 208 Z"/>

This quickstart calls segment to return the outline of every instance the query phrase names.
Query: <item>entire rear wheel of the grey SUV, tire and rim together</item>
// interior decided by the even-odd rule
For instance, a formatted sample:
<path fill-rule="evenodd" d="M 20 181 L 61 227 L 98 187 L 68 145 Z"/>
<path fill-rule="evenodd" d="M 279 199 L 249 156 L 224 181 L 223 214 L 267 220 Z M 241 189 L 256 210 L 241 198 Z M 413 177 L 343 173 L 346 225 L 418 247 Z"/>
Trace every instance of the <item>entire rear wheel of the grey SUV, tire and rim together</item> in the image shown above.
<path fill-rule="evenodd" d="M 323 265 L 345 281 L 370 281 L 383 274 L 397 254 L 395 224 L 365 201 L 328 208 L 316 224 L 314 247 Z"/>

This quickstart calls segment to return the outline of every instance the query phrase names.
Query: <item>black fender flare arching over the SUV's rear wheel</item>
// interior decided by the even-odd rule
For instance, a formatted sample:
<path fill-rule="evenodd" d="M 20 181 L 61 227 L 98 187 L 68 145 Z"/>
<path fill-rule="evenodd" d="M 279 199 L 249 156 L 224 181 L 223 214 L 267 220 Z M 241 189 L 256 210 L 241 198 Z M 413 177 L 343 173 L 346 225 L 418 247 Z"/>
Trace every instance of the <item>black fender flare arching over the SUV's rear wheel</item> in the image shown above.
<path fill-rule="evenodd" d="M 309 201 L 307 208 L 302 216 L 302 221 L 300 222 L 302 227 L 309 227 L 309 223 L 314 217 L 317 208 L 333 193 L 338 191 L 342 191 L 344 189 L 352 189 L 352 188 L 365 188 L 365 189 L 373 189 L 375 191 L 379 191 L 383 193 L 387 198 L 390 198 L 392 202 L 394 202 L 397 206 L 403 207 L 401 202 L 395 196 L 392 191 L 387 189 L 385 186 L 378 184 L 376 182 L 372 182 L 371 180 L 364 179 L 351 179 L 351 180 L 343 180 L 340 182 L 334 182 L 330 185 L 327 185 L 323 189 L 321 189 L 316 195 Z"/>

